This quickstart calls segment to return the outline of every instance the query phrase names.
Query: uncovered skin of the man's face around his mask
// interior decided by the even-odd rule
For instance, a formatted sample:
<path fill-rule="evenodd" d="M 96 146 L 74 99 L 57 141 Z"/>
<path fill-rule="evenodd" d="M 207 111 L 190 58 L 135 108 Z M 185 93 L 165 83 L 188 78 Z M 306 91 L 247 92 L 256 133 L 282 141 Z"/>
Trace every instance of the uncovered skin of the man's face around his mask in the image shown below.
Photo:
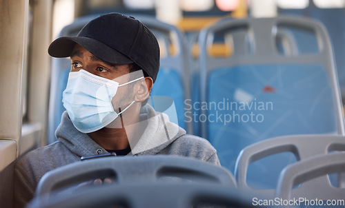
<path fill-rule="evenodd" d="M 71 72 L 78 72 L 81 69 L 86 70 L 91 74 L 117 81 L 120 85 L 130 81 L 129 65 L 105 63 L 81 47 L 81 45 L 75 45 L 70 59 L 72 63 Z M 132 101 L 132 85 L 124 85 L 118 88 L 115 97 L 112 98 L 112 105 L 115 112 L 119 113 L 119 107 L 121 107 L 121 110 L 124 110 Z"/>

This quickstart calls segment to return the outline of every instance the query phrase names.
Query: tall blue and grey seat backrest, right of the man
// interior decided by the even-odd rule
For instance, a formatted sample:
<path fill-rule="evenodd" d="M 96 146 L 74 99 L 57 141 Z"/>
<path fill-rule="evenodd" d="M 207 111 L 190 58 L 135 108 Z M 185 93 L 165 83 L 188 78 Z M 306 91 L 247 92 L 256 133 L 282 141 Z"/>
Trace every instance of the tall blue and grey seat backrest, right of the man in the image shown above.
<path fill-rule="evenodd" d="M 313 34 L 318 52 L 279 52 L 277 28 Z M 246 34 L 248 44 L 237 45 L 247 48 L 239 53 L 234 48 L 226 58 L 208 54 L 217 34 L 231 43 L 238 32 Z M 226 19 L 202 30 L 199 45 L 201 136 L 231 171 L 239 152 L 257 141 L 291 134 L 344 134 L 333 52 L 320 23 L 297 17 Z"/>

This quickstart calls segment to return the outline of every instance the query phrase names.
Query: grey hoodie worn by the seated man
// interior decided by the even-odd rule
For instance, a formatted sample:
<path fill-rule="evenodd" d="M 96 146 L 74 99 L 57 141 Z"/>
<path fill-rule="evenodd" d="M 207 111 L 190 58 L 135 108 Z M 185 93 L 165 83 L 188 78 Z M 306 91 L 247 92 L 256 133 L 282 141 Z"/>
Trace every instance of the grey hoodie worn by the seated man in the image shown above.
<path fill-rule="evenodd" d="M 220 165 L 216 150 L 204 138 L 186 134 L 181 127 L 171 123 L 166 114 L 155 112 L 150 105 L 142 108 L 141 118 L 146 129 L 140 140 L 132 147 L 131 155 L 171 154 L 197 158 Z M 57 127 L 58 141 L 29 152 L 14 166 L 14 207 L 24 207 L 33 196 L 41 177 L 46 172 L 75 163 L 81 156 L 106 153 L 106 149 L 93 141 L 88 134 L 79 132 L 63 113 Z"/>

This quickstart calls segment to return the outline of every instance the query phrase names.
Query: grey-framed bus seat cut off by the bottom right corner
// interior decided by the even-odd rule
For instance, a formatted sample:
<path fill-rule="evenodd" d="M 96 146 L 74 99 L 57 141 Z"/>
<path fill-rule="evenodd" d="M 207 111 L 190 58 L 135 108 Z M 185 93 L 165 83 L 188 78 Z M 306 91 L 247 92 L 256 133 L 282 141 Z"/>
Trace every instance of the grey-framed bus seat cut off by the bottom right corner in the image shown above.
<path fill-rule="evenodd" d="M 344 207 L 345 188 L 333 187 L 327 174 L 345 172 L 345 152 L 314 156 L 288 165 L 279 176 L 276 196 L 284 200 L 304 198 L 304 200 L 335 200 L 342 202 L 333 207 Z M 293 187 L 301 184 L 299 187 Z M 311 191 L 313 190 L 313 191 Z M 320 204 L 320 203 L 319 203 Z M 305 205 L 311 206 L 310 202 Z"/>

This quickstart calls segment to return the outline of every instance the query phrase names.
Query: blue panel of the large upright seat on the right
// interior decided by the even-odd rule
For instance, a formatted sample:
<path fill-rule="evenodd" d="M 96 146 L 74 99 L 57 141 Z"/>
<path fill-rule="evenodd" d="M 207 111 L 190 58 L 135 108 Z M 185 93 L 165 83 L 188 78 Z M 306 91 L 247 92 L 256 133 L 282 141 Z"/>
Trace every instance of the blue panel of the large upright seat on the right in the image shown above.
<path fill-rule="evenodd" d="M 208 139 L 221 165 L 230 171 L 244 147 L 266 138 L 337 132 L 333 91 L 320 65 L 241 65 L 213 70 L 208 76 L 207 105 Z M 219 115 L 222 121 L 217 120 Z M 199 120 L 205 116 L 199 115 Z M 230 117 L 226 123 L 224 118 Z M 248 170 L 248 180 L 262 175 L 253 180 L 275 188 L 277 178 L 272 178 L 284 163 L 296 160 L 293 154 L 281 156 L 268 158 L 266 165 L 255 162 Z M 268 171 L 267 167 L 275 168 Z"/>

